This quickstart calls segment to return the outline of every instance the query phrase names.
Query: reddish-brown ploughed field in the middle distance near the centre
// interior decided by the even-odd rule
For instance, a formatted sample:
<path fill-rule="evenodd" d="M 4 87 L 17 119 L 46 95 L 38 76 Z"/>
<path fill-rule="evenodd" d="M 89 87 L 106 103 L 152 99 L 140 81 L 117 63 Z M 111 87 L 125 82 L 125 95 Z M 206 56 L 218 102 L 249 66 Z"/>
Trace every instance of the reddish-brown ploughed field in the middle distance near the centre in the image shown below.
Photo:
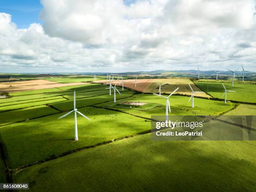
<path fill-rule="evenodd" d="M 144 92 L 146 88 L 154 81 L 154 79 L 137 79 L 137 87 L 135 87 L 135 79 L 127 79 L 123 80 L 123 87 L 128 87 L 133 90 Z M 97 81 L 97 83 L 106 83 L 107 81 Z M 117 83 L 118 86 L 122 86 L 122 80 L 120 80 L 120 84 L 118 80 L 113 80 L 112 84 L 115 85 Z"/>

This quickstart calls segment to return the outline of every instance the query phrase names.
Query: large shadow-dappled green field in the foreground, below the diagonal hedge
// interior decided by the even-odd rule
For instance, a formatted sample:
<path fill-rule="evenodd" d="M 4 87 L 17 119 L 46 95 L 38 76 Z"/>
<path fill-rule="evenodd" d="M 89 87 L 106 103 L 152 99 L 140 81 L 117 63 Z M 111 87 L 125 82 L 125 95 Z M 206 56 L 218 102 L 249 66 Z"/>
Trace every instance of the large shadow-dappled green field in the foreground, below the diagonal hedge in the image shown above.
<path fill-rule="evenodd" d="M 14 180 L 33 190 L 254 191 L 255 148 L 254 141 L 151 141 L 145 134 L 28 167 Z"/>

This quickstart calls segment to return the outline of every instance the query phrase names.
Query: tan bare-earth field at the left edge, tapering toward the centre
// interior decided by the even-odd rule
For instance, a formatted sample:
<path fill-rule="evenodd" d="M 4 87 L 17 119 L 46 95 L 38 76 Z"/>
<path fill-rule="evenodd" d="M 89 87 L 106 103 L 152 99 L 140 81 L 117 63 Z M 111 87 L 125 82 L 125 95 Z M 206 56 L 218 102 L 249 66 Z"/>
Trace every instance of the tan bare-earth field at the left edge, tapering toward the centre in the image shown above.
<path fill-rule="evenodd" d="M 8 82 L 0 83 L 0 92 L 20 92 L 20 91 L 31 91 L 31 90 L 41 90 L 54 87 L 66 87 L 72 85 L 87 84 L 83 82 L 77 83 L 56 83 L 51 81 L 46 81 L 43 79 L 30 80 L 30 81 L 20 81 L 20 82 Z"/>

